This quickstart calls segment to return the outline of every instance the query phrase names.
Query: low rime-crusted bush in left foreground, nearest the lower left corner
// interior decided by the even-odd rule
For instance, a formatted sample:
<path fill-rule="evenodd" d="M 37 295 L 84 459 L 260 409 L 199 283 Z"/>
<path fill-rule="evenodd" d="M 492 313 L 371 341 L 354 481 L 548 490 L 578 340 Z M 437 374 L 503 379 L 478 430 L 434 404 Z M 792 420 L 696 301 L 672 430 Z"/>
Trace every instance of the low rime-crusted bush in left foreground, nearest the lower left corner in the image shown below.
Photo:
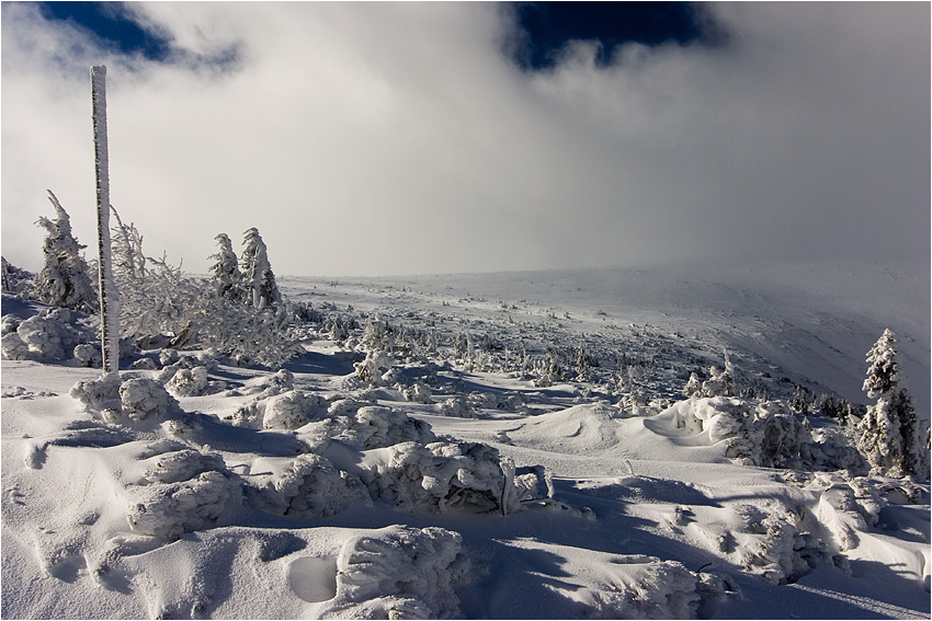
<path fill-rule="evenodd" d="M 212 526 L 241 498 L 239 483 L 216 470 L 187 481 L 152 483 L 136 492 L 140 499 L 129 506 L 129 527 L 166 541 Z"/>

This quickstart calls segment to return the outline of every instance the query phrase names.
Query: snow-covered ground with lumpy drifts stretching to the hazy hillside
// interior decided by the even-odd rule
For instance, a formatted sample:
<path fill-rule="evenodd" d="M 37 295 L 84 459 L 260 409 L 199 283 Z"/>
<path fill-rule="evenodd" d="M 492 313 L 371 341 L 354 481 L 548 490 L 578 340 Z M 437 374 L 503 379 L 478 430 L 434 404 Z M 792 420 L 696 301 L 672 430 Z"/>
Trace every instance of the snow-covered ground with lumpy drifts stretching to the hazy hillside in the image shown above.
<path fill-rule="evenodd" d="M 4 618 L 929 617 L 928 484 L 815 411 L 890 327 L 929 417 L 928 268 L 279 285 L 283 369 L 3 360 Z"/>

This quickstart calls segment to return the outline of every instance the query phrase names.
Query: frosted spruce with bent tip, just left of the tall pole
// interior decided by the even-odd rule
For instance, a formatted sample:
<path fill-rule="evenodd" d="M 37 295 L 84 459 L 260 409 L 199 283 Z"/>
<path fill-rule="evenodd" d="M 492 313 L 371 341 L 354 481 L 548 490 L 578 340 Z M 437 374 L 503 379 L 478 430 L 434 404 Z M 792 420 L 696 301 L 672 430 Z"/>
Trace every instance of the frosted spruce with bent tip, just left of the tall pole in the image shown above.
<path fill-rule="evenodd" d="M 90 277 L 90 268 L 81 256 L 86 245 L 71 234 L 71 219 L 58 198 L 48 191 L 48 200 L 55 207 L 54 220 L 42 217 L 36 225 L 47 234 L 43 244 L 45 265 L 35 280 L 35 296 L 39 301 L 79 311 L 98 308 L 98 292 Z"/>

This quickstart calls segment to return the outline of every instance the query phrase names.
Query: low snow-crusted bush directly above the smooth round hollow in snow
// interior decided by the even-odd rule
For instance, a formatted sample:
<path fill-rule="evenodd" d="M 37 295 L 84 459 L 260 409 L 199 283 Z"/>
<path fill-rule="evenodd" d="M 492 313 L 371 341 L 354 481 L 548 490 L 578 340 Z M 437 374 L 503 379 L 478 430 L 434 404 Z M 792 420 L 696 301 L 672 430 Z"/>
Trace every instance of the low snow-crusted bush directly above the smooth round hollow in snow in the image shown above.
<path fill-rule="evenodd" d="M 246 487 L 257 508 L 293 518 L 323 518 L 344 511 L 356 503 L 370 503 L 368 492 L 353 474 L 338 470 L 330 460 L 307 453 L 288 460 L 261 460 L 254 468 L 273 474 Z M 253 479 L 254 481 L 254 479 Z"/>

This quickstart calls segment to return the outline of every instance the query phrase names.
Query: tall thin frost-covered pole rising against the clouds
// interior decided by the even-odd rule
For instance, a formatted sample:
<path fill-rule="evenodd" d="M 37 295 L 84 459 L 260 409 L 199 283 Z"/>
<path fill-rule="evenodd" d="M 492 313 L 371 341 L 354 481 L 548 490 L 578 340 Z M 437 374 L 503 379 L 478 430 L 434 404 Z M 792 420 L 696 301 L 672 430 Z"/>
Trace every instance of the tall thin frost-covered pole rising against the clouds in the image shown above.
<path fill-rule="evenodd" d="M 104 376 L 120 368 L 120 292 L 113 280 L 110 245 L 110 171 L 106 149 L 106 67 L 91 67 L 94 120 L 94 170 L 98 182 L 98 241 L 100 251 L 101 350 Z"/>

